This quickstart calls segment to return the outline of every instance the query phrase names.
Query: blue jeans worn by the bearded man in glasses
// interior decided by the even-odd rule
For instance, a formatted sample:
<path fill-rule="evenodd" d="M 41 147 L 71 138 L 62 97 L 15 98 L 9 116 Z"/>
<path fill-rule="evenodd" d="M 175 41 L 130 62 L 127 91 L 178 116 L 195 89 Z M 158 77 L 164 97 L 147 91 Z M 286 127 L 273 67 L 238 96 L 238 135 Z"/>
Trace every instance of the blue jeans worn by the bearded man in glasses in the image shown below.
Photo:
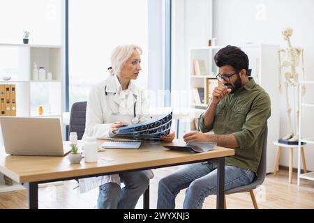
<path fill-rule="evenodd" d="M 255 174 L 249 169 L 225 166 L 225 190 L 248 185 Z M 158 185 L 157 208 L 174 209 L 180 190 L 186 190 L 184 209 L 200 209 L 204 199 L 217 191 L 217 169 L 213 162 L 188 164 L 162 178 Z"/>

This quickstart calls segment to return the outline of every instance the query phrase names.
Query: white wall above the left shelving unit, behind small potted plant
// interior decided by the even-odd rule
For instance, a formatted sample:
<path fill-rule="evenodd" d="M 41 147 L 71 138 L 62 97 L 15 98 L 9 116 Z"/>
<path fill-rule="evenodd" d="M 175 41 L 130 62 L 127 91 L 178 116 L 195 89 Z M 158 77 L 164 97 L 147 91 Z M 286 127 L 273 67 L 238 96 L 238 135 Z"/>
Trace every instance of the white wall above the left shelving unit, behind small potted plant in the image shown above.
<path fill-rule="evenodd" d="M 22 44 L 29 31 L 29 44 L 61 45 L 61 0 L 0 1 L 0 43 Z"/>

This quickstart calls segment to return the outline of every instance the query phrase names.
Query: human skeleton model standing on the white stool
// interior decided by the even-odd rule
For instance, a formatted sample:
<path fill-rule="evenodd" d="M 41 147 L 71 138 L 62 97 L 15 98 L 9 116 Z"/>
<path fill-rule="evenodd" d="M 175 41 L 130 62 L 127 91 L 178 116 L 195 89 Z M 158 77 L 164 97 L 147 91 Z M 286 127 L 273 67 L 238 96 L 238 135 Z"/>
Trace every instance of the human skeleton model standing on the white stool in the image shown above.
<path fill-rule="evenodd" d="M 287 116 L 289 118 L 289 125 L 290 125 L 290 133 L 283 137 L 283 140 L 287 141 L 298 141 L 298 135 L 296 132 L 299 129 L 299 97 L 297 93 L 299 92 L 299 74 L 297 73 L 297 68 L 299 67 L 299 61 L 301 57 L 301 72 L 302 78 L 304 79 L 304 58 L 303 58 L 303 49 L 299 47 L 292 47 L 290 43 L 290 37 L 292 36 L 292 29 L 286 28 L 283 30 L 283 38 L 287 41 L 287 48 L 280 49 L 278 51 L 279 55 L 279 90 L 281 91 L 281 76 L 282 70 L 289 70 L 285 72 L 285 98 L 286 98 L 286 105 L 287 105 Z M 283 69 L 285 67 L 285 69 Z M 291 120 L 291 107 L 290 107 L 290 98 L 288 95 L 289 87 L 292 87 L 293 90 L 293 105 L 294 105 L 294 129 L 292 126 Z M 297 92 L 295 89 L 297 88 Z M 305 87 L 302 87 L 302 94 L 305 93 Z M 294 99 L 294 100 L 293 100 Z"/>

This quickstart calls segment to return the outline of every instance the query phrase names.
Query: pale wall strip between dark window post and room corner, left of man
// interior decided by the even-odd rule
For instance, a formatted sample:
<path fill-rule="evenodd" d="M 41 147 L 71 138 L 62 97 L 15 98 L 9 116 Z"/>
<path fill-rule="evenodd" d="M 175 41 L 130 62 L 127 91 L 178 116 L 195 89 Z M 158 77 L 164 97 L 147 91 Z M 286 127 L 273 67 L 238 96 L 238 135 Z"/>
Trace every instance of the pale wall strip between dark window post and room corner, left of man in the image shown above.
<path fill-rule="evenodd" d="M 172 107 L 188 107 L 189 49 L 205 47 L 211 38 L 211 0 L 172 1 Z M 189 130 L 189 122 L 181 121 Z"/>

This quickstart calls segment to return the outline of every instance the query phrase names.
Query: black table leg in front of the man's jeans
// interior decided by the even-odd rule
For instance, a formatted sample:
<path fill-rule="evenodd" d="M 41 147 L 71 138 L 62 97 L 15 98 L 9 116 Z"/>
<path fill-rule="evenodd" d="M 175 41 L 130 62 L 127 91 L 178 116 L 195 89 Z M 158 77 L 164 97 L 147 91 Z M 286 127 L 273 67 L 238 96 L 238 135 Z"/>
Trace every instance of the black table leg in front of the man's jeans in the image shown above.
<path fill-rule="evenodd" d="M 217 163 L 217 200 L 216 208 L 223 209 L 225 195 L 225 157 L 218 158 Z"/>

